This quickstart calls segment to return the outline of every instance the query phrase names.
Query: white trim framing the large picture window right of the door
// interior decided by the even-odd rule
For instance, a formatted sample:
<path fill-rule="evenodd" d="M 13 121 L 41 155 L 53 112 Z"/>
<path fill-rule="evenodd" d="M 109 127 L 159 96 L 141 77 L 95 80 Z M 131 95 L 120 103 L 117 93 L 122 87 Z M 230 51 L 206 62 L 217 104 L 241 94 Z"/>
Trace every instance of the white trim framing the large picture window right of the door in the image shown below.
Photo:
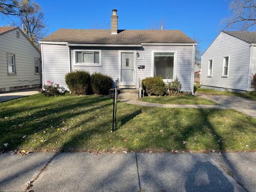
<path fill-rule="evenodd" d="M 174 61 L 173 61 L 173 78 L 172 79 L 163 79 L 164 82 L 173 81 L 176 78 L 176 66 L 177 66 L 177 51 L 172 50 L 153 50 L 151 51 L 151 77 L 154 77 L 154 60 L 155 54 L 154 53 L 174 53 Z"/>

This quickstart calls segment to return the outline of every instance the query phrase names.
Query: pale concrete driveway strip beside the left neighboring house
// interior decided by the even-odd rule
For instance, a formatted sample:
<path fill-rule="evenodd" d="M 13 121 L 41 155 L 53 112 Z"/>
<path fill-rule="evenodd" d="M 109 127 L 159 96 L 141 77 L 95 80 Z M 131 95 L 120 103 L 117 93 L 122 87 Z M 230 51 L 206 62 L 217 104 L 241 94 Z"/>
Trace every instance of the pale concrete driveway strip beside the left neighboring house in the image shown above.
<path fill-rule="evenodd" d="M 38 93 L 37 90 L 38 88 L 0 93 L 0 102 L 33 95 Z"/>

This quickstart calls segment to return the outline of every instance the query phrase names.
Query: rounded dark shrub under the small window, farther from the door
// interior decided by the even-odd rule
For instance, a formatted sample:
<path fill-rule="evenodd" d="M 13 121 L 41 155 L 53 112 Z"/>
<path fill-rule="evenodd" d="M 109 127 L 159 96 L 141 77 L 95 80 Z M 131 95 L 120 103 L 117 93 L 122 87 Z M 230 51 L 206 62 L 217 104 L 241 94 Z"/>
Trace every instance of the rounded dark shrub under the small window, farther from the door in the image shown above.
<path fill-rule="evenodd" d="M 84 70 L 71 71 L 65 75 L 65 81 L 71 94 L 86 95 L 91 93 L 90 73 Z"/>

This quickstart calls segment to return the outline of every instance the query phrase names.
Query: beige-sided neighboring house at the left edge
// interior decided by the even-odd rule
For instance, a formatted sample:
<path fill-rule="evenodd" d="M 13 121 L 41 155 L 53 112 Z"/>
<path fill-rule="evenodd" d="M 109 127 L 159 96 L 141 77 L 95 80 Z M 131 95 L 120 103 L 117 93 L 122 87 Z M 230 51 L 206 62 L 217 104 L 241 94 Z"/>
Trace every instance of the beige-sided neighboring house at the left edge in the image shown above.
<path fill-rule="evenodd" d="M 40 59 L 19 27 L 0 27 L 0 92 L 41 86 Z"/>

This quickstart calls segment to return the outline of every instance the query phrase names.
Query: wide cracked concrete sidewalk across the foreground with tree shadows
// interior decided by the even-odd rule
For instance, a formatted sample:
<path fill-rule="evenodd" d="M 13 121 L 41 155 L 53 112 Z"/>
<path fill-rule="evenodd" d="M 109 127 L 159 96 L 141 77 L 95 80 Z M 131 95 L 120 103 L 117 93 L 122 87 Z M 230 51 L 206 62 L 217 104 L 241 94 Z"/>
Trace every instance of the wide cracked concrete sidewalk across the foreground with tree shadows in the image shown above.
<path fill-rule="evenodd" d="M 256 153 L 5 153 L 0 191 L 25 191 L 28 181 L 33 191 L 256 191 L 255 159 Z"/>

